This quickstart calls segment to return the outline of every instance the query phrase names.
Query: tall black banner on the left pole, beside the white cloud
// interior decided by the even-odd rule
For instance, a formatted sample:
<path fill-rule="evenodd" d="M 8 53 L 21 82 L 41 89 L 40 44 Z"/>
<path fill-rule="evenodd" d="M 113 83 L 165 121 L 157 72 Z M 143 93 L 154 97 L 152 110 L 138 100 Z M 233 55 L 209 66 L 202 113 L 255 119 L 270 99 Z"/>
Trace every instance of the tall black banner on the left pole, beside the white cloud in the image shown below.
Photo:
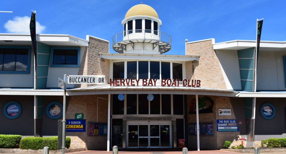
<path fill-rule="evenodd" d="M 35 68 L 37 68 L 37 40 L 36 40 L 36 14 L 32 13 L 30 21 L 30 34 L 35 55 Z M 35 70 L 36 71 L 36 70 Z"/>

